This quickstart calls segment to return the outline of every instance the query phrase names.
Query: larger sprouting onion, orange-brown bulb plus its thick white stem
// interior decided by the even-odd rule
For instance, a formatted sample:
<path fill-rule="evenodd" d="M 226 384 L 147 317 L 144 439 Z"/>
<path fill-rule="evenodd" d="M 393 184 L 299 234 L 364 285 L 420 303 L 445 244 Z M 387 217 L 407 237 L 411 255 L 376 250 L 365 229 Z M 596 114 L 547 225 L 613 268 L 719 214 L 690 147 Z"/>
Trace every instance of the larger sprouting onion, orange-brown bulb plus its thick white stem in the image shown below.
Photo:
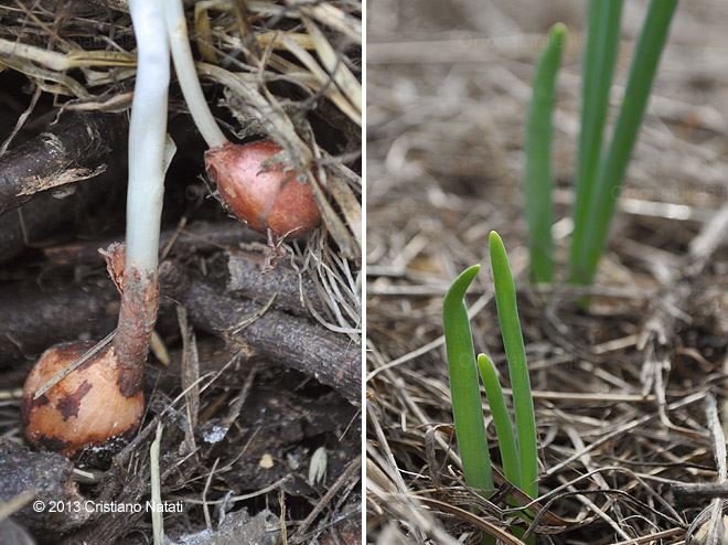
<path fill-rule="evenodd" d="M 120 245 L 113 246 L 110 256 L 114 269 L 124 270 L 114 342 L 77 367 L 74 364 L 88 356 L 94 342 L 49 349 L 23 389 L 28 441 L 66 456 L 128 436 L 143 414 L 141 386 L 159 302 L 170 53 L 162 4 L 130 0 L 129 11 L 137 39 L 137 78 L 129 126 L 126 256 L 118 252 Z"/>

